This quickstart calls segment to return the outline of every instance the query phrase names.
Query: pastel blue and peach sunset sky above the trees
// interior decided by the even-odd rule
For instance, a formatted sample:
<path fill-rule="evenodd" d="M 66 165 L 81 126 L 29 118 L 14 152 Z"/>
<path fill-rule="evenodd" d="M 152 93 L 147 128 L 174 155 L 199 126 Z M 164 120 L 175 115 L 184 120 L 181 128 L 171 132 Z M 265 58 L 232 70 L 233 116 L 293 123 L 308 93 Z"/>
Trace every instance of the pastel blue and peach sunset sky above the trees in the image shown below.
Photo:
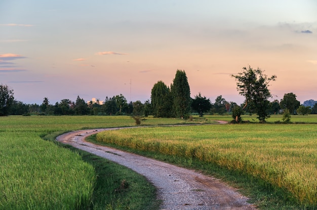
<path fill-rule="evenodd" d="M 315 0 L 0 0 L 0 84 L 16 100 L 51 104 L 123 94 L 150 100 L 184 70 L 191 97 L 244 97 L 230 75 L 276 75 L 281 100 L 317 100 Z"/>

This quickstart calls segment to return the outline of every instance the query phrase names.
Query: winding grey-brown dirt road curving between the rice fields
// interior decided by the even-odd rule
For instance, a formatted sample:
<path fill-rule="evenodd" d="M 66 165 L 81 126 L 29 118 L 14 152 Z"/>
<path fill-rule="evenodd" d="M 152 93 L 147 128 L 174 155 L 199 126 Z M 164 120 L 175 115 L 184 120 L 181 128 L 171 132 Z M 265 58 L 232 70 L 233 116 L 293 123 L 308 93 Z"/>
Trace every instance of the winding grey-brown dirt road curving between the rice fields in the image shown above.
<path fill-rule="evenodd" d="M 58 136 L 56 140 L 142 174 L 157 188 L 157 199 L 163 200 L 161 209 L 255 209 L 247 203 L 246 197 L 218 179 L 85 141 L 89 135 L 111 129 L 123 128 L 73 131 Z"/>

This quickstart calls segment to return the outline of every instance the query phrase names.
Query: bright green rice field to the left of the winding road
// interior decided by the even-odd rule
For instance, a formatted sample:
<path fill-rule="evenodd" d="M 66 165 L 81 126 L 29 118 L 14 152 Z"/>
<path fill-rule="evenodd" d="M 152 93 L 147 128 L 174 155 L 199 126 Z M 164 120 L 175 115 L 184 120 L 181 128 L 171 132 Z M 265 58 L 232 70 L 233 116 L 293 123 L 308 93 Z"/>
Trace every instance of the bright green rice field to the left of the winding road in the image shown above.
<path fill-rule="evenodd" d="M 148 119 L 146 125 L 183 120 Z M 134 126 L 127 116 L 10 116 L 0 121 L 0 209 L 88 209 L 94 168 L 52 141 L 88 128 Z"/>

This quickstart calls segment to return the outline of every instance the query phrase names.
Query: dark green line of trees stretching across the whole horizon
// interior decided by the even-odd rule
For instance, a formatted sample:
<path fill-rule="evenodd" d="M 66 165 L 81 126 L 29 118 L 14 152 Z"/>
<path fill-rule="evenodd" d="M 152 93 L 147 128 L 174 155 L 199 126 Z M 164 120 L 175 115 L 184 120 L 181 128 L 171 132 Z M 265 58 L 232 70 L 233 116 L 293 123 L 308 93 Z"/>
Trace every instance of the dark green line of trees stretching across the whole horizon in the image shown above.
<path fill-rule="evenodd" d="M 103 104 L 85 102 L 79 95 L 76 101 L 62 99 L 50 104 L 47 97 L 42 104 L 25 104 L 14 98 L 14 91 L 7 85 L 0 85 L 0 116 L 8 115 L 132 115 L 154 117 L 188 118 L 190 114 L 232 114 L 233 119 L 241 121 L 242 114 L 257 114 L 260 122 L 272 114 L 288 111 L 290 114 L 317 114 L 317 103 L 313 107 L 301 106 L 294 93 L 286 93 L 279 100 L 269 101 L 269 82 L 276 76 L 267 77 L 261 69 L 243 68 L 241 73 L 231 75 L 235 78 L 237 90 L 245 96 L 245 102 L 238 105 L 227 101 L 222 95 L 212 103 L 201 93 L 190 97 L 190 87 L 185 71 L 177 70 L 173 83 L 168 86 L 163 81 L 156 82 L 151 89 L 151 99 L 142 103 L 130 101 L 122 94 L 106 97 Z"/>

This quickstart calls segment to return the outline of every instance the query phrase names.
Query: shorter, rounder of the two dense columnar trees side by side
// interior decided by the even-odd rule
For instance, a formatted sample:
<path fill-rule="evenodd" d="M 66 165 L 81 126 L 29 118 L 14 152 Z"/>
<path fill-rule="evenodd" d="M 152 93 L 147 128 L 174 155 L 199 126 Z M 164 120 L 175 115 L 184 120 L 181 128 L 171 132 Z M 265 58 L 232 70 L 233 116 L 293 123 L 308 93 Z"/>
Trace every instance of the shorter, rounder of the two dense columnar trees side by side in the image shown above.
<path fill-rule="evenodd" d="M 163 81 L 158 81 L 151 90 L 151 107 L 154 117 L 171 117 L 173 98 L 171 90 Z"/>

